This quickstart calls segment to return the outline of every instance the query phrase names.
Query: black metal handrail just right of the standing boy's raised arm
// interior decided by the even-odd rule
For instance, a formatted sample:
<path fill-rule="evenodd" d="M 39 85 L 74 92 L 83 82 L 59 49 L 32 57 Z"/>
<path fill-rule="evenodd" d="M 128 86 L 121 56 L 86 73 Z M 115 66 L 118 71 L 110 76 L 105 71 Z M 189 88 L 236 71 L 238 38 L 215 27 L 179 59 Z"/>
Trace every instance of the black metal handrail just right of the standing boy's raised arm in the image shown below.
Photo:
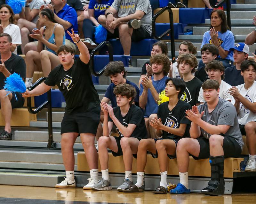
<path fill-rule="evenodd" d="M 109 62 L 113 62 L 113 61 L 114 61 L 114 57 L 113 57 L 113 47 L 112 47 L 112 45 L 111 45 L 111 43 L 110 43 L 109 41 L 103 41 L 103 42 L 101 42 L 97 47 L 95 47 L 95 48 L 92 50 L 91 55 L 90 55 L 90 67 L 91 67 L 91 70 L 92 70 L 93 75 L 96 76 L 96 77 L 101 76 L 101 75 L 104 73 L 104 71 L 105 71 L 105 69 L 106 69 L 106 67 L 107 67 L 107 65 L 106 65 L 105 67 L 103 67 L 103 68 L 102 68 L 100 71 L 98 71 L 98 72 L 96 72 L 96 71 L 94 70 L 94 55 L 95 55 L 98 51 L 100 51 L 100 50 L 102 49 L 102 47 L 104 47 L 105 45 L 108 46 Z"/>

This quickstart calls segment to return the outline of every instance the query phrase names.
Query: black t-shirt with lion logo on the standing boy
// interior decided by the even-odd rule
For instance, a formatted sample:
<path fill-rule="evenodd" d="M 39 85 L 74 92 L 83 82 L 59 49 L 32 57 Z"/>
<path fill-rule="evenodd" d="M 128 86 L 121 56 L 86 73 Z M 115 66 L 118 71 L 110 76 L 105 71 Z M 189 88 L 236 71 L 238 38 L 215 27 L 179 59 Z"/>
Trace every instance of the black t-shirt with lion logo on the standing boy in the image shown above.
<path fill-rule="evenodd" d="M 67 71 L 62 64 L 52 69 L 44 83 L 59 87 L 66 100 L 66 113 L 86 112 L 100 104 L 89 64 L 85 64 L 80 58 Z"/>

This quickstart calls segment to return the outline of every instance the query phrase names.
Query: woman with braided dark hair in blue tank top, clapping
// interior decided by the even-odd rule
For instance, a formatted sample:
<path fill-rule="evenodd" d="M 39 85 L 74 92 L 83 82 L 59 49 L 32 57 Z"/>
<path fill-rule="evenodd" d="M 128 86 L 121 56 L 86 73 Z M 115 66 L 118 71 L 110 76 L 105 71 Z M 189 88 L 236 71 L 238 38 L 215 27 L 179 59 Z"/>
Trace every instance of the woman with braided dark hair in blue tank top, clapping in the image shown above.
<path fill-rule="evenodd" d="M 26 87 L 32 85 L 34 71 L 43 71 L 47 77 L 51 70 L 60 64 L 56 55 L 58 48 L 65 44 L 65 31 L 62 25 L 56 23 L 50 9 L 43 9 L 38 21 L 40 30 L 33 30 L 30 37 L 38 40 L 37 51 L 30 50 L 26 54 Z"/>

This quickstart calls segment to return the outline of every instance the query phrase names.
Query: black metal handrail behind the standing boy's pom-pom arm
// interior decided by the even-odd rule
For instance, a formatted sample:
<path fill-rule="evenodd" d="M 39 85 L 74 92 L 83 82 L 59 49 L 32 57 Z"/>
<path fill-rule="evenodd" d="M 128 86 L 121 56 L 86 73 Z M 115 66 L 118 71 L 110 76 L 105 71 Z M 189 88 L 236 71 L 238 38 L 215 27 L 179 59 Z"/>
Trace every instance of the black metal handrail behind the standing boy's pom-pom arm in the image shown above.
<path fill-rule="evenodd" d="M 36 88 L 39 84 L 41 84 L 46 77 L 41 77 L 38 79 L 32 86 L 28 88 L 28 91 L 32 91 L 33 89 Z M 53 141 L 53 134 L 52 134 L 52 96 L 51 96 L 51 89 L 47 91 L 47 101 L 42 103 L 39 107 L 37 107 L 35 110 L 32 109 L 31 106 L 31 97 L 27 98 L 27 106 L 28 106 L 28 112 L 32 114 L 39 113 L 44 107 L 47 106 L 48 110 L 48 144 L 47 148 L 54 148 L 56 142 Z"/>

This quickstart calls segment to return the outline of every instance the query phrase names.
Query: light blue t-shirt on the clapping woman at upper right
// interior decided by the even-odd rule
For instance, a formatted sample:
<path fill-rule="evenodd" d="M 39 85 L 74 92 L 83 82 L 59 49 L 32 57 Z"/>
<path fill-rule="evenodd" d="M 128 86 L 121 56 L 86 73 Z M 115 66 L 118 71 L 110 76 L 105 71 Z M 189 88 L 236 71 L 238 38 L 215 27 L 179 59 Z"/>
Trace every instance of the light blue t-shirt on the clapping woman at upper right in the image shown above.
<path fill-rule="evenodd" d="M 219 43 L 220 43 L 221 47 L 225 51 L 228 51 L 228 56 L 225 59 L 234 62 L 233 51 L 229 51 L 230 48 L 234 48 L 234 44 L 235 44 L 235 38 L 234 38 L 233 33 L 228 30 L 225 33 L 218 32 L 218 34 L 219 34 L 218 38 L 220 38 Z M 204 44 L 207 44 L 207 43 L 212 44 L 210 31 L 206 31 L 204 33 L 201 48 L 203 47 Z M 220 55 L 218 57 L 220 57 Z"/>

